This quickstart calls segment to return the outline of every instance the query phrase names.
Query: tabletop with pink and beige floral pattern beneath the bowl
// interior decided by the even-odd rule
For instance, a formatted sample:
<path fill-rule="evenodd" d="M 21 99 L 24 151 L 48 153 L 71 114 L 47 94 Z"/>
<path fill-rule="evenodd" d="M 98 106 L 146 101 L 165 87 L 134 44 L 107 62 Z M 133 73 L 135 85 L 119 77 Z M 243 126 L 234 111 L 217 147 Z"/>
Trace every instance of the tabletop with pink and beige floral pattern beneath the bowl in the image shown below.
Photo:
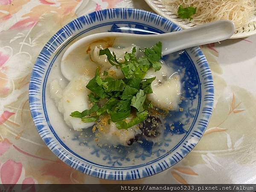
<path fill-rule="evenodd" d="M 47 148 L 29 111 L 29 77 L 62 26 L 99 9 L 152 11 L 143 0 L 0 0 L 0 183 L 117 183 L 84 175 Z M 256 36 L 202 47 L 215 84 L 204 137 L 172 168 L 122 183 L 256 183 Z"/>

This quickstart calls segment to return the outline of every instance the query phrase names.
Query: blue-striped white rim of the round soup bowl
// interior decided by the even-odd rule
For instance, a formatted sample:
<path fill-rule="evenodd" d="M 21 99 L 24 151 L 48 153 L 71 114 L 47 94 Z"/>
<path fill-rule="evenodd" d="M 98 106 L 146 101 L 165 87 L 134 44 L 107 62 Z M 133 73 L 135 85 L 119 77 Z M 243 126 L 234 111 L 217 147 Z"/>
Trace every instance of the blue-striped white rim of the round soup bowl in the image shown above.
<path fill-rule="evenodd" d="M 116 18 L 115 12 L 116 13 L 121 12 L 121 13 L 125 13 L 125 14 L 123 14 L 123 16 L 121 14 L 121 18 L 119 18 L 117 16 L 116 16 L 117 17 Z M 42 99 L 42 94 L 43 94 L 43 93 L 41 93 L 41 91 L 44 92 L 45 90 L 44 90 L 44 88 L 41 89 L 41 86 L 42 86 L 42 84 L 44 84 L 44 85 L 46 84 L 45 79 L 47 79 L 47 78 L 44 77 L 44 75 L 45 75 L 44 73 L 45 73 L 45 70 L 48 71 L 51 68 L 48 66 L 49 62 L 51 61 L 54 63 L 54 61 L 52 61 L 52 59 L 51 59 L 51 56 L 54 55 L 54 53 L 55 53 L 56 49 L 58 49 L 58 47 L 60 47 L 64 42 L 66 43 L 66 40 L 73 35 L 73 32 L 76 32 L 76 30 L 80 30 L 83 28 L 83 23 L 81 22 L 81 20 L 84 20 L 84 23 L 86 23 L 86 25 L 84 24 L 85 26 L 93 23 L 93 19 L 95 20 L 95 22 L 101 23 L 102 21 L 104 21 L 104 17 L 102 17 L 102 15 L 108 13 L 109 18 L 105 17 L 105 20 L 121 19 L 124 22 L 124 20 L 127 19 L 126 12 L 131 13 L 131 15 L 138 16 L 138 19 L 137 19 L 137 17 L 135 18 L 138 21 L 137 23 L 142 23 L 141 22 L 142 19 L 139 18 L 139 15 L 143 14 L 143 15 L 148 15 L 147 16 L 148 18 L 154 17 L 154 19 L 157 20 L 156 23 L 158 23 L 158 25 L 162 21 L 164 21 L 166 23 L 166 26 L 172 25 L 175 27 L 175 30 L 182 30 L 179 26 L 177 26 L 172 21 L 167 20 L 166 18 L 161 17 L 160 15 L 154 14 L 152 12 L 144 11 L 141 9 L 114 8 L 114 9 L 103 9 L 103 10 L 89 13 L 87 15 L 78 17 L 75 20 L 68 23 L 67 25 L 63 26 L 58 32 L 56 32 L 52 36 L 52 38 L 50 38 L 50 40 L 47 42 L 47 44 L 45 44 L 45 46 L 39 53 L 38 58 L 35 61 L 35 65 L 33 67 L 32 75 L 31 75 L 30 82 L 29 82 L 29 106 L 30 106 L 31 115 L 32 115 L 33 121 L 35 123 L 35 126 L 38 130 L 38 133 L 40 134 L 41 138 L 44 140 L 44 142 L 46 143 L 48 148 L 59 159 L 61 159 L 64 163 L 68 164 L 69 166 L 73 167 L 74 169 L 77 169 L 80 172 L 83 172 L 87 175 L 91 175 L 91 176 L 102 178 L 102 179 L 134 180 L 134 179 L 139 179 L 139 178 L 155 175 L 159 172 L 169 169 L 170 167 L 172 167 L 173 165 L 178 163 L 180 160 L 182 160 L 183 157 L 185 157 L 190 151 L 192 151 L 192 149 L 195 147 L 195 145 L 201 139 L 202 135 L 204 134 L 204 131 L 207 128 L 209 119 L 212 114 L 212 109 L 213 109 L 214 87 L 213 87 L 213 81 L 212 81 L 212 73 L 209 69 L 209 64 L 208 64 L 205 56 L 201 52 L 201 49 L 199 47 L 193 47 L 190 49 L 186 49 L 185 52 L 188 55 L 188 58 L 190 58 L 190 60 L 192 61 L 192 64 L 194 65 L 197 73 L 198 73 L 198 70 L 196 69 L 195 62 L 193 62 L 191 57 L 195 57 L 195 55 L 198 55 L 200 53 L 199 54 L 200 56 L 195 57 L 195 58 L 200 57 L 200 58 L 198 58 L 196 63 L 198 65 L 204 64 L 204 67 L 202 68 L 203 70 L 201 70 L 201 73 L 207 72 L 207 74 L 206 74 L 207 76 L 204 77 L 204 79 L 207 78 L 209 81 L 207 80 L 205 82 L 201 82 L 200 77 L 202 76 L 202 74 L 201 73 L 198 74 L 198 81 L 199 81 L 198 88 L 199 89 L 202 88 L 202 83 L 207 83 L 207 86 L 208 86 L 208 87 L 204 87 L 204 94 L 202 94 L 202 96 L 204 96 L 204 98 L 201 96 L 201 100 L 202 100 L 202 102 L 204 102 L 204 105 L 201 105 L 201 108 L 200 107 L 198 108 L 198 111 L 200 109 L 201 113 L 204 113 L 204 118 L 200 119 L 201 124 L 198 124 L 198 126 L 200 128 L 198 127 L 198 129 L 196 131 L 197 133 L 193 133 L 194 135 L 191 135 L 191 138 L 189 140 L 187 140 L 185 144 L 183 143 L 186 146 L 183 145 L 182 146 L 183 148 L 181 148 L 181 146 L 177 144 L 177 148 L 181 149 L 181 152 L 179 150 L 180 153 L 177 151 L 173 155 L 171 155 L 172 153 L 170 153 L 170 154 L 167 153 L 166 155 L 163 155 L 161 158 L 157 158 L 157 159 L 152 160 L 143 165 L 119 168 L 119 167 L 111 167 L 111 166 L 110 167 L 109 166 L 101 166 L 101 165 L 97 165 L 96 163 L 90 162 L 89 160 L 82 160 L 80 157 L 77 157 L 77 156 L 71 154 L 70 151 L 67 151 L 67 148 L 64 148 L 63 145 L 58 143 L 59 142 L 58 136 L 56 134 L 54 134 L 53 130 L 51 130 L 49 120 L 47 121 L 47 115 L 44 116 L 45 110 L 44 109 L 40 110 L 38 108 L 38 105 L 35 106 L 35 104 L 38 104 L 38 103 L 40 103 L 40 105 L 43 104 L 42 101 L 40 100 L 40 99 Z M 130 15 L 130 17 L 131 17 L 131 15 Z M 145 18 L 144 18 L 144 20 L 145 20 Z M 148 21 L 149 21 L 149 19 L 148 19 Z M 151 23 L 151 24 L 154 25 L 155 28 L 157 29 L 158 25 L 156 23 L 154 23 L 154 24 Z M 143 23 L 143 25 L 144 25 L 144 23 Z M 63 35 L 65 36 L 65 38 Z M 64 41 L 61 37 L 66 40 Z M 204 71 L 204 70 L 207 70 L 207 71 Z M 40 83 L 40 81 L 41 82 L 44 81 L 44 83 Z M 207 93 L 209 93 L 209 94 L 207 94 Z M 206 98 L 207 95 L 209 97 L 208 99 Z M 201 100 L 199 102 L 201 102 Z M 207 106 L 207 109 L 204 109 L 206 111 L 203 112 L 202 111 L 203 107 L 206 108 L 206 106 Z M 199 112 L 198 112 L 198 114 L 199 114 Z M 202 116 L 202 114 L 201 114 L 201 116 Z M 38 120 L 38 118 L 39 118 L 39 120 Z M 44 124 L 43 120 L 42 119 L 40 120 L 40 118 L 45 120 L 46 123 Z M 197 118 L 195 118 L 195 120 L 197 120 Z M 195 124 L 192 126 L 190 131 L 192 131 L 194 128 L 195 128 Z M 50 136 L 52 136 L 52 137 L 50 137 Z M 187 137 L 188 136 L 185 135 L 182 140 L 186 140 Z M 175 150 L 177 150 L 177 148 Z M 170 157 L 170 156 L 172 156 L 172 157 Z M 170 160 L 171 158 L 172 158 L 172 161 Z M 170 163 L 167 163 L 169 161 L 170 161 Z"/>

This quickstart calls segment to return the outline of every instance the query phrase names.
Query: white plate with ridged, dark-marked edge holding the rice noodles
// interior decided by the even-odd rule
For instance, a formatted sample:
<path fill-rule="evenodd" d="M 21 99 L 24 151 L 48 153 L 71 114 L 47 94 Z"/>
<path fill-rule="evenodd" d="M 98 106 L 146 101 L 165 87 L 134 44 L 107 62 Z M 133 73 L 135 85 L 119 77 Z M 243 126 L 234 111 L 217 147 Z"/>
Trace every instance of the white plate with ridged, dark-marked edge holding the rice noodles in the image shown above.
<path fill-rule="evenodd" d="M 196 26 L 194 23 L 189 22 L 188 20 L 183 20 L 178 17 L 174 12 L 166 9 L 166 6 L 163 5 L 162 0 L 145 0 L 146 3 L 159 15 L 166 17 L 171 20 L 173 23 L 179 25 L 183 29 L 189 29 L 193 26 Z M 245 38 L 250 35 L 256 34 L 256 16 L 254 16 L 248 26 L 242 30 L 236 31 L 235 34 L 230 39 L 236 38 Z"/>

